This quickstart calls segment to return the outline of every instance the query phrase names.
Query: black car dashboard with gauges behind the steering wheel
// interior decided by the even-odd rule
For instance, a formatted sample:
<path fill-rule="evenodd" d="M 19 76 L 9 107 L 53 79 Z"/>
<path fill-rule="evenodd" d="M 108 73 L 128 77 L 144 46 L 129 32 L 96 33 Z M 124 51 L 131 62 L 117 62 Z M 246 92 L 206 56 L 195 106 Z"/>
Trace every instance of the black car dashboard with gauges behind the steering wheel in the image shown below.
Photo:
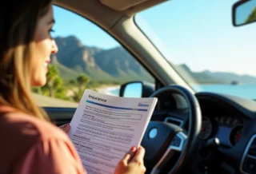
<path fill-rule="evenodd" d="M 158 97 L 158 105 L 152 119 L 169 122 L 188 131 L 189 109 L 178 109 L 177 103 L 180 101 L 173 96 L 169 93 Z M 253 147 L 249 147 L 249 142 L 256 134 L 256 101 L 218 93 L 196 93 L 195 96 L 202 112 L 202 129 L 198 136 L 200 147 L 218 140 L 218 144 L 215 143 L 212 149 L 217 149 L 218 159 L 222 161 L 219 164 L 222 172 L 237 173 L 239 170 L 241 173 L 254 173 L 248 172 L 248 168 L 252 166 L 251 163 L 256 164 L 256 154 L 249 155 L 249 150 Z M 256 142 L 256 138 L 254 141 Z M 207 155 L 199 157 L 201 162 L 210 161 L 206 157 L 210 152 L 206 153 Z M 250 160 L 253 162 L 246 162 L 248 158 L 254 158 Z"/>

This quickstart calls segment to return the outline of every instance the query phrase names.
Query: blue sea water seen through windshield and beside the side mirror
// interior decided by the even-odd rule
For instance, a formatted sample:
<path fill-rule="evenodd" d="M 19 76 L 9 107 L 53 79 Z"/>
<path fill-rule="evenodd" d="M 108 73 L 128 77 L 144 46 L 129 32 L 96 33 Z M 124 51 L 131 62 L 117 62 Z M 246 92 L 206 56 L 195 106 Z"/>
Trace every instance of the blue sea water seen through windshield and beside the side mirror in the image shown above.
<path fill-rule="evenodd" d="M 242 85 L 192 85 L 197 92 L 224 93 L 238 97 L 256 99 L 256 84 Z M 119 89 L 110 91 L 114 96 L 119 95 Z"/>

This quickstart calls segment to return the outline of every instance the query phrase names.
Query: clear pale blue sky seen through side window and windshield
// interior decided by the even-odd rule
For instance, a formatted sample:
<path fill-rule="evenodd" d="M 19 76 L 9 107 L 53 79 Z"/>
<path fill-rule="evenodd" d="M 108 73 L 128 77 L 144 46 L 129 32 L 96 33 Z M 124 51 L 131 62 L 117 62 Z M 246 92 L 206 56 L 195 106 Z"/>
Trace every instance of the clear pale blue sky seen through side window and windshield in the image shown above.
<path fill-rule="evenodd" d="M 174 64 L 256 76 L 256 22 L 232 26 L 234 2 L 171 0 L 137 14 L 135 22 Z M 103 49 L 119 45 L 98 26 L 59 7 L 54 18 L 54 37 L 75 35 L 84 45 Z"/>

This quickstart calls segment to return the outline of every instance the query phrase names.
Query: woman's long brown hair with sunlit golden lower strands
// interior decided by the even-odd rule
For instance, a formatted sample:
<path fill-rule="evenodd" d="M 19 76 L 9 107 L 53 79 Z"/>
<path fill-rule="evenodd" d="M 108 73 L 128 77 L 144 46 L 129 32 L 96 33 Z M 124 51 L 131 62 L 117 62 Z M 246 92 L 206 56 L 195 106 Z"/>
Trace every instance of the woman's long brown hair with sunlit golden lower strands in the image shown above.
<path fill-rule="evenodd" d="M 14 0 L 0 6 L 0 105 L 49 121 L 30 92 L 30 54 L 38 21 L 51 0 Z"/>

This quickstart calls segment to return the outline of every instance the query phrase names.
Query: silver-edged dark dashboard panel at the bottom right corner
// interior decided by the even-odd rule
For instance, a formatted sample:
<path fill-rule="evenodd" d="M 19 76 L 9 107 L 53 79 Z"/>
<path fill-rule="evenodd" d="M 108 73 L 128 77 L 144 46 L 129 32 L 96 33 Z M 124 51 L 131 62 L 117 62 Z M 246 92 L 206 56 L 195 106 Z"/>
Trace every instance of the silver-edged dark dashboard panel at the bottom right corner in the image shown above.
<path fill-rule="evenodd" d="M 250 138 L 240 166 L 242 173 L 256 173 L 256 135 Z"/>

